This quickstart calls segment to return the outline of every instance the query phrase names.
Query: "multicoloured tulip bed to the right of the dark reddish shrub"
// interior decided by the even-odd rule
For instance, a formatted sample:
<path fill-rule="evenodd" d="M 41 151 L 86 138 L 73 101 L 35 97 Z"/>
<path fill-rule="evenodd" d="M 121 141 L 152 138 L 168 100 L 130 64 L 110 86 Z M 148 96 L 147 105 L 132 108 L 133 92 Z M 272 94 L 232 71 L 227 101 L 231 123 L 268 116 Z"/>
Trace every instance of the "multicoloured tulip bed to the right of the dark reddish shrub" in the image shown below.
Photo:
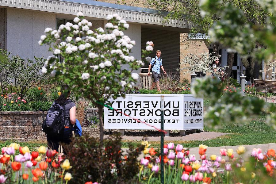
<path fill-rule="evenodd" d="M 145 146 L 144 158 L 140 161 L 141 183 L 160 183 L 160 152 Z M 276 179 L 276 155 L 273 149 L 262 152 L 254 148 L 249 161 L 244 161 L 245 147 L 240 146 L 234 158 L 233 149 L 221 149 L 220 156 L 210 155 L 207 146 L 199 145 L 199 157 L 189 155 L 189 149 L 181 144 L 164 145 L 164 183 L 274 183 Z"/>

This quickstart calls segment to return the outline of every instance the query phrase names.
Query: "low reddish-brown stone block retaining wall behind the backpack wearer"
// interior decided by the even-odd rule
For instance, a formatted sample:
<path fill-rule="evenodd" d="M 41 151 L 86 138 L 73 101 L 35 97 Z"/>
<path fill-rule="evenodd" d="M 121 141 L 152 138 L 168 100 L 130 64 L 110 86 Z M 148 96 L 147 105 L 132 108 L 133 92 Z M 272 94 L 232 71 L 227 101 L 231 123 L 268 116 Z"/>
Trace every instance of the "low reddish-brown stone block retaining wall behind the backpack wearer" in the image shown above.
<path fill-rule="evenodd" d="M 88 109 L 97 112 L 98 109 Z M 47 111 L 0 111 L 0 140 L 24 140 L 37 135 Z"/>

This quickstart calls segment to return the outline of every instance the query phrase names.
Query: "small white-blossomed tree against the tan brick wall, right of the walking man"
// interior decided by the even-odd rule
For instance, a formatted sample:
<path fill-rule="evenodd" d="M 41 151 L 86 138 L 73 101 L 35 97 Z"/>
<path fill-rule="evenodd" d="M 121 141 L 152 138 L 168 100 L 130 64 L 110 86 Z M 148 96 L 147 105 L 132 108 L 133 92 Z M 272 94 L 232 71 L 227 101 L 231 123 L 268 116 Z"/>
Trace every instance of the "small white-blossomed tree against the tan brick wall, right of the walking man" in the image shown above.
<path fill-rule="evenodd" d="M 213 52 L 214 53 L 214 52 Z M 221 77 L 221 73 L 219 70 L 224 70 L 226 67 L 217 67 L 217 71 L 214 71 L 213 66 L 209 66 L 209 64 L 212 64 L 214 60 L 219 58 L 220 56 L 211 56 L 213 53 L 199 53 L 199 54 L 192 54 L 188 53 L 184 59 L 182 59 L 182 62 L 179 63 L 179 65 L 184 65 L 184 67 L 178 69 L 180 71 L 183 70 L 184 74 L 187 73 L 197 73 L 197 72 L 203 72 L 206 74 L 206 72 L 216 74 L 219 77 Z M 184 55 L 182 55 L 184 56 Z"/>

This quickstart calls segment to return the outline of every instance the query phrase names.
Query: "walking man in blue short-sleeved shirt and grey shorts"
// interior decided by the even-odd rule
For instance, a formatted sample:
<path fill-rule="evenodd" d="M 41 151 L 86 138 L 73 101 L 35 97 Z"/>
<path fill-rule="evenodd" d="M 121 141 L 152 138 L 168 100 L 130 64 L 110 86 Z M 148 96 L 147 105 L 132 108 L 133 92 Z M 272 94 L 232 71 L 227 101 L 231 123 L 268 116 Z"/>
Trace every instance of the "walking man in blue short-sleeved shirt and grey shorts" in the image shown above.
<path fill-rule="evenodd" d="M 160 85 L 159 85 L 159 77 L 160 77 L 160 68 L 163 70 L 163 73 L 166 74 L 166 71 L 164 70 L 162 59 L 160 58 L 161 51 L 156 51 L 156 56 L 151 59 L 151 63 L 148 66 L 148 76 L 150 75 L 150 72 L 152 72 L 152 78 L 153 82 L 151 85 L 151 90 L 156 86 L 157 90 L 161 93 Z"/>

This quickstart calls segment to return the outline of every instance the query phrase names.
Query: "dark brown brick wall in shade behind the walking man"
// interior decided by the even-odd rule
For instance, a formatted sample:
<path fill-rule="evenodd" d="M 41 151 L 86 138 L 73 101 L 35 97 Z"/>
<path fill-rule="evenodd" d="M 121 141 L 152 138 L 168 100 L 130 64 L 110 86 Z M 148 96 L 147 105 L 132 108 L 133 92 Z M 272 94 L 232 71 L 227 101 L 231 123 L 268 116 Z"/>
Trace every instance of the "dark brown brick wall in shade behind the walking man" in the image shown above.
<path fill-rule="evenodd" d="M 155 51 L 160 50 L 165 71 L 177 76 L 179 76 L 179 71 L 177 71 L 179 68 L 179 39 L 179 32 L 141 28 L 141 49 L 145 49 L 147 41 L 153 41 L 154 50 L 149 56 L 155 57 Z M 148 67 L 148 65 L 149 63 L 145 63 L 144 67 Z"/>

